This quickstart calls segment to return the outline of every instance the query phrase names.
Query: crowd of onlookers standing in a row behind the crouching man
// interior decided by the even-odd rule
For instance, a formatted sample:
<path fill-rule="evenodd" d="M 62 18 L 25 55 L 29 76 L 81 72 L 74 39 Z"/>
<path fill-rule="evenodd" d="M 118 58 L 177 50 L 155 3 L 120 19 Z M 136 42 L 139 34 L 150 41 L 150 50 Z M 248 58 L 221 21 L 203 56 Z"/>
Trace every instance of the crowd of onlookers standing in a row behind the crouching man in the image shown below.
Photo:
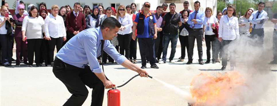
<path fill-rule="evenodd" d="M 181 43 L 181 56 L 177 62 L 184 62 L 187 54 L 187 64 L 192 64 L 196 39 L 199 64 L 204 64 L 202 42 L 205 42 L 207 48 L 205 64 L 220 63 L 221 59 L 222 70 L 226 69 L 227 65 L 229 53 L 228 48 L 226 49 L 227 45 L 238 40 L 240 36 L 256 39 L 256 43 L 263 46 L 264 23 L 268 20 L 267 12 L 264 11 L 264 2 L 258 4 L 257 10 L 250 8 L 241 17 L 237 17 L 236 10 L 231 5 L 222 12 L 218 11 L 214 16 L 215 11 L 210 7 L 207 7 L 205 11 L 200 11 L 199 1 L 194 3 L 194 11 L 189 10 L 189 4 L 185 1 L 184 9 L 176 12 L 174 3 L 169 6 L 163 3 L 156 7 L 155 11 L 150 12 L 150 3 L 146 2 L 141 12 L 138 12 L 135 3 L 127 6 L 120 5 L 117 10 L 114 7 L 104 8 L 103 5 L 90 8 L 88 5 L 82 7 L 80 3 L 74 3 L 73 9 L 69 5 L 62 7 L 52 5 L 49 13 L 43 2 L 39 7 L 30 4 L 25 10 L 24 2 L 17 0 L 15 15 L 11 15 L 8 3 L 2 0 L 1 64 L 11 66 L 14 60 L 12 49 L 15 40 L 17 66 L 24 63 L 32 67 L 34 57 L 38 67 L 43 63 L 45 66 L 53 66 L 55 47 L 58 52 L 73 36 L 88 28 L 100 27 L 104 19 L 108 17 L 114 17 L 121 23 L 118 36 L 111 40 L 111 44 L 121 55 L 137 63 L 138 42 L 142 60 L 141 68 L 146 68 L 148 62 L 151 68 L 156 69 L 159 68 L 156 63 L 166 63 L 170 42 L 169 62 L 175 63 L 173 59 L 178 38 Z M 166 11 L 168 7 L 170 11 Z M 271 63 L 276 64 L 276 14 L 272 22 L 275 26 L 274 60 Z M 100 57 L 98 60 L 100 62 Z M 103 64 L 114 64 L 114 61 L 107 53 L 103 53 Z M 233 53 L 230 53 L 230 66 L 231 70 L 235 68 Z"/>

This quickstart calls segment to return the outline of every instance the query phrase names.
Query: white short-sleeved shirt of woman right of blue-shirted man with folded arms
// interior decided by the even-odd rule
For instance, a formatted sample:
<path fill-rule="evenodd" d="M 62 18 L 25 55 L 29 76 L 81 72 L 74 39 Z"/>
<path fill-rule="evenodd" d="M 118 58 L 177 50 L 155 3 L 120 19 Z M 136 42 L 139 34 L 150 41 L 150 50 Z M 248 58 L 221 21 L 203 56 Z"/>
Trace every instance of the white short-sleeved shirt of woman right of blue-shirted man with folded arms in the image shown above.
<path fill-rule="evenodd" d="M 205 35 L 215 35 L 212 29 L 212 24 L 218 23 L 217 18 L 215 16 L 211 16 L 209 18 L 205 17 L 204 24 L 205 25 Z"/>

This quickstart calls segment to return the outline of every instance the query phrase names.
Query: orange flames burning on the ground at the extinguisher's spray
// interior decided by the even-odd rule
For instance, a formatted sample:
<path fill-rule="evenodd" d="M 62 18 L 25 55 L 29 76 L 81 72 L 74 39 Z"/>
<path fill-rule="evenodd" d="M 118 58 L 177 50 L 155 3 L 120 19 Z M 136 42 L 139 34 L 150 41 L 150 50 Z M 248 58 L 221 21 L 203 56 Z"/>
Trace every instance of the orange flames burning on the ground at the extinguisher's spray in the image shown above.
<path fill-rule="evenodd" d="M 235 94 L 239 87 L 245 85 L 237 71 L 218 73 L 217 76 L 201 73 L 191 81 L 190 93 L 195 99 L 191 106 L 225 106 L 228 95 Z"/>

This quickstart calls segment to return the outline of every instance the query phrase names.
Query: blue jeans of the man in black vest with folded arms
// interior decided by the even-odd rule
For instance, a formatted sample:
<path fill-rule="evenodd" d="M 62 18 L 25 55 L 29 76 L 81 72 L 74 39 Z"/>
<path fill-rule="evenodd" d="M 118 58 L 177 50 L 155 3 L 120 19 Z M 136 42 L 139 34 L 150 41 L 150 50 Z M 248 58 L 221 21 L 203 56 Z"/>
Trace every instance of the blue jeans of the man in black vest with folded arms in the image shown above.
<path fill-rule="evenodd" d="M 176 52 L 176 45 L 177 45 L 177 39 L 178 35 L 169 35 L 169 34 L 164 34 L 164 46 L 162 48 L 162 60 L 166 62 L 166 54 L 167 54 L 167 48 L 169 42 L 171 42 L 171 53 L 169 57 L 169 61 L 173 60 Z"/>

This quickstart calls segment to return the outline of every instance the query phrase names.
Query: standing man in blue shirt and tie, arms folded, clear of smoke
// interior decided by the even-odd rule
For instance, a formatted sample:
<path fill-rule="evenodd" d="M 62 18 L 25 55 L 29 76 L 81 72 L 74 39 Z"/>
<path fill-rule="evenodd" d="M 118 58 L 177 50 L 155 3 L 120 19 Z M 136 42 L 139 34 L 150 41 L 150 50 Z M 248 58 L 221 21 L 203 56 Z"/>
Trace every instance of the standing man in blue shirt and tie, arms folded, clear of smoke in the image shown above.
<path fill-rule="evenodd" d="M 200 2 L 195 1 L 194 2 L 194 9 L 195 11 L 189 13 L 189 19 L 187 23 L 190 25 L 189 27 L 192 28 L 192 30 L 188 30 L 189 32 L 189 61 L 187 64 L 192 64 L 192 57 L 193 57 L 193 48 L 194 48 L 194 42 L 196 39 L 197 42 L 197 49 L 198 49 L 198 56 L 199 56 L 199 64 L 203 64 L 203 50 L 202 50 L 202 41 L 204 41 L 203 36 L 203 21 L 205 19 L 205 14 L 202 11 L 199 11 L 200 8 Z"/>

